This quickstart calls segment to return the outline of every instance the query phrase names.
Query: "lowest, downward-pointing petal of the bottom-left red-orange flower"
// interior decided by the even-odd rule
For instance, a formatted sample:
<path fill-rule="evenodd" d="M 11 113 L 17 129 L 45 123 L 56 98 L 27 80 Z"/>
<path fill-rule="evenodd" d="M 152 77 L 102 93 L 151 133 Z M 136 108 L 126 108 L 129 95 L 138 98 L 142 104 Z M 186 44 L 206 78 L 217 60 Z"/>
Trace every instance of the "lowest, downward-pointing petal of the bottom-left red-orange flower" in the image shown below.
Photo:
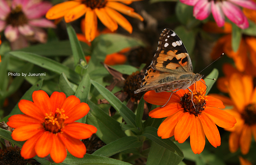
<path fill-rule="evenodd" d="M 67 150 L 63 142 L 59 137 L 59 133 L 57 136 L 53 137 L 52 141 L 52 150 L 51 150 L 51 158 L 55 163 L 60 163 L 64 161 L 67 157 Z"/>

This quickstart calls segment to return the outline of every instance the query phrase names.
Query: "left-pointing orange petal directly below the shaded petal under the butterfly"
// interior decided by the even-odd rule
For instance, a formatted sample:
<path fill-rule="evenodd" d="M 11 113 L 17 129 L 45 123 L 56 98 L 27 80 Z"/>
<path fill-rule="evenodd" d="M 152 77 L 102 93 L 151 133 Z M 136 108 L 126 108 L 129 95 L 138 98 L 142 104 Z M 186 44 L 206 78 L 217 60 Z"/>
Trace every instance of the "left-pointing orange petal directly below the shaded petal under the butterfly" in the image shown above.
<path fill-rule="evenodd" d="M 165 118 L 171 116 L 177 111 L 183 110 L 180 103 L 170 103 L 164 107 L 158 107 L 148 113 L 148 116 L 152 118 Z"/>

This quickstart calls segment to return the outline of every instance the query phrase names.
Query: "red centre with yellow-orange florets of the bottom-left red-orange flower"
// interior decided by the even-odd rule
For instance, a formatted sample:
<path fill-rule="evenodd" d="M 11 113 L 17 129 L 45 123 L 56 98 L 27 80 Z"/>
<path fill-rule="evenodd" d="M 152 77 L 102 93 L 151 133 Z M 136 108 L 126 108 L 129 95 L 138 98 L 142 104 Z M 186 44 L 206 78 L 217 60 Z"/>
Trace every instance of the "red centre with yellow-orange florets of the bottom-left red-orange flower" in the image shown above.
<path fill-rule="evenodd" d="M 59 108 L 57 108 L 55 114 L 51 112 L 50 114 L 46 113 L 45 116 L 44 129 L 52 133 L 61 132 L 60 130 L 64 127 L 64 120 L 68 118 L 68 116 L 65 116 L 64 110 Z"/>

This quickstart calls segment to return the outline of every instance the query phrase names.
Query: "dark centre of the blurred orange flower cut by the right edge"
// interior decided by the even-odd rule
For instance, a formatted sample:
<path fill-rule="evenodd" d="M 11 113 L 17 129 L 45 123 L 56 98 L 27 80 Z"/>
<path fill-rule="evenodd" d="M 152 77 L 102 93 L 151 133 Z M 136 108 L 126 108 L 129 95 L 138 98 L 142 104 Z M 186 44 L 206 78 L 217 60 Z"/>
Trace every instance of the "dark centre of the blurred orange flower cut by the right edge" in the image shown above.
<path fill-rule="evenodd" d="M 244 123 L 252 126 L 256 124 L 256 107 L 255 104 L 249 104 L 245 107 L 244 112 L 241 114 Z"/>

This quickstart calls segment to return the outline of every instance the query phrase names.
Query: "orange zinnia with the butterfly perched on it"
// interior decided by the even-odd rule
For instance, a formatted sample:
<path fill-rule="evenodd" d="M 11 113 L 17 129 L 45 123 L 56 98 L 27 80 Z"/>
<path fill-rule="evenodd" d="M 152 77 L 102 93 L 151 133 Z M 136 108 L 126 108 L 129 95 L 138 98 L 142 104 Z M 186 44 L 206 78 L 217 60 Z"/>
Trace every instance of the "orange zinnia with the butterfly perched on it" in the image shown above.
<path fill-rule="evenodd" d="M 191 92 L 188 89 L 179 90 L 172 94 L 164 107 L 149 112 L 148 115 L 152 118 L 167 117 L 158 128 L 158 136 L 166 139 L 174 135 L 179 143 L 183 143 L 190 136 L 190 145 L 195 154 L 204 150 L 205 136 L 212 146 L 220 146 L 220 133 L 216 125 L 232 128 L 236 119 L 219 109 L 225 108 L 219 99 L 204 96 L 205 88 L 205 84 L 200 81 L 189 87 L 193 91 L 194 105 L 191 102 Z M 148 91 L 144 99 L 151 104 L 164 105 L 170 95 L 170 92 Z"/>

